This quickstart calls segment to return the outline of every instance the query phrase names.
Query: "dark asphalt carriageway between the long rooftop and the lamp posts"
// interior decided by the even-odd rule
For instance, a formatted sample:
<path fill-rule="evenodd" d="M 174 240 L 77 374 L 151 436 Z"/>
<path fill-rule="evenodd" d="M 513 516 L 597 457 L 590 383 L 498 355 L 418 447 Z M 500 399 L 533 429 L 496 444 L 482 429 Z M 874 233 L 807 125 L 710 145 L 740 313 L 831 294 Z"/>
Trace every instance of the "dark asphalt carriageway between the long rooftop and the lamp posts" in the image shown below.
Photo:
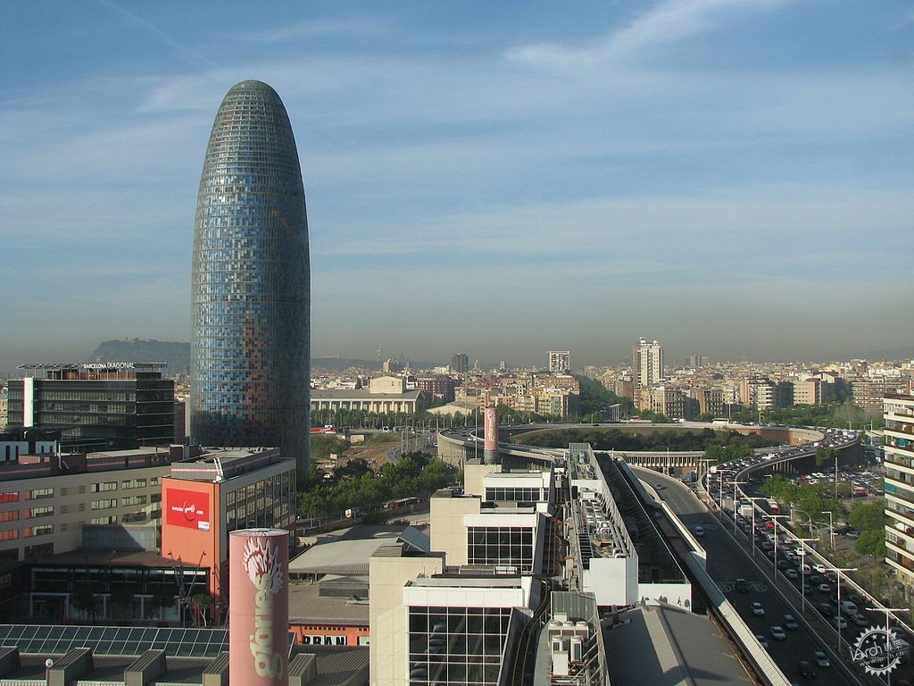
<path fill-rule="evenodd" d="M 654 488 L 658 497 L 664 500 L 686 526 L 694 530 L 696 524 L 700 524 L 704 528 L 705 535 L 700 542 L 707 552 L 707 572 L 737 609 L 752 632 L 767 639 L 771 657 L 778 663 L 788 679 L 800 681 L 800 660 L 809 660 L 814 667 L 813 652 L 822 650 L 829 656 L 832 664 L 827 668 L 815 668 L 818 680 L 828 684 L 847 684 L 847 686 L 877 683 L 871 677 L 867 677 L 865 680 L 857 679 L 843 663 L 838 663 L 833 648 L 828 646 L 806 624 L 801 612 L 772 589 L 771 560 L 763 557 L 761 552 L 755 558 L 751 558 L 747 550 L 733 538 L 732 529 L 725 527 L 715 515 L 708 512 L 690 488 L 675 478 L 665 477 L 649 469 L 632 467 L 632 470 L 649 488 Z M 664 488 L 655 488 L 657 484 Z M 745 579 L 749 583 L 747 593 L 739 593 L 736 590 L 737 579 Z M 787 588 L 787 580 L 781 577 L 778 583 L 783 586 L 782 590 L 785 593 L 790 593 Z M 765 611 L 764 616 L 752 614 L 753 602 L 761 604 Z M 813 613 L 814 610 L 807 604 L 807 615 L 813 616 Z M 783 617 L 787 614 L 796 617 L 799 623 L 798 628 L 784 627 Z M 773 638 L 771 636 L 772 626 L 784 627 L 786 638 L 783 640 Z"/>

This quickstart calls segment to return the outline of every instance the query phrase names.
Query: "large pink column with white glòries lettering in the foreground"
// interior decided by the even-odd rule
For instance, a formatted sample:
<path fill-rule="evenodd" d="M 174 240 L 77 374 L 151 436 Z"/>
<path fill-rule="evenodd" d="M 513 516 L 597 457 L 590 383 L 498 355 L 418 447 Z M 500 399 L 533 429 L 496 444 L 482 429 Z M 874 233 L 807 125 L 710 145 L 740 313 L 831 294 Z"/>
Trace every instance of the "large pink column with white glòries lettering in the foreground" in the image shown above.
<path fill-rule="evenodd" d="M 228 683 L 289 684 L 289 532 L 228 534 Z"/>

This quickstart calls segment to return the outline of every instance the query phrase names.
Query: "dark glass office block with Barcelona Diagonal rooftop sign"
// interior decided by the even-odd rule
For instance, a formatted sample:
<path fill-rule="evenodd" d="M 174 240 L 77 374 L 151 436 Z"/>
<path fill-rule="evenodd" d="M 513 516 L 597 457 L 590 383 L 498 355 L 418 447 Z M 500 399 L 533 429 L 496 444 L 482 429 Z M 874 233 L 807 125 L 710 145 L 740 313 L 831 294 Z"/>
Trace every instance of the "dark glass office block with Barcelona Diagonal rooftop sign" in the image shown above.
<path fill-rule="evenodd" d="M 9 381 L 9 430 L 59 432 L 69 451 L 175 441 L 175 382 L 161 363 L 23 365 Z"/>

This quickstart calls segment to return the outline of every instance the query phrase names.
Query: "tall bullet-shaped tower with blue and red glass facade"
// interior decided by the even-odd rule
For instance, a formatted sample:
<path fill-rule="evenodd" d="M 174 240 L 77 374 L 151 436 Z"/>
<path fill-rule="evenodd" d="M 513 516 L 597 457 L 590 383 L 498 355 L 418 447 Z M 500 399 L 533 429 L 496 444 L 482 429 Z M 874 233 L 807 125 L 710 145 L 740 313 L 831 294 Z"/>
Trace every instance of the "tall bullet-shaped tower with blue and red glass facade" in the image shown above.
<path fill-rule="evenodd" d="M 216 114 L 197 196 L 191 439 L 309 463 L 311 273 L 289 116 L 260 81 Z"/>

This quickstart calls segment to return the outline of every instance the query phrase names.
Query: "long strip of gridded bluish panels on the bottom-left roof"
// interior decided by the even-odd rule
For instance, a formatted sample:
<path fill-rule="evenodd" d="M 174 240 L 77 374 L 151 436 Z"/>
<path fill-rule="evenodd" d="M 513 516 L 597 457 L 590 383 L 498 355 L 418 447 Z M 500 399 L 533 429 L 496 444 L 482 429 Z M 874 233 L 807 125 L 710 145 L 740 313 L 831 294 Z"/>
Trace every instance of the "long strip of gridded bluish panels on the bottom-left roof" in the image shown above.
<path fill-rule="evenodd" d="M 3 624 L 0 646 L 37 655 L 63 655 L 72 648 L 91 648 L 96 656 L 131 656 L 164 649 L 166 655 L 214 658 L 228 650 L 228 630 Z"/>

